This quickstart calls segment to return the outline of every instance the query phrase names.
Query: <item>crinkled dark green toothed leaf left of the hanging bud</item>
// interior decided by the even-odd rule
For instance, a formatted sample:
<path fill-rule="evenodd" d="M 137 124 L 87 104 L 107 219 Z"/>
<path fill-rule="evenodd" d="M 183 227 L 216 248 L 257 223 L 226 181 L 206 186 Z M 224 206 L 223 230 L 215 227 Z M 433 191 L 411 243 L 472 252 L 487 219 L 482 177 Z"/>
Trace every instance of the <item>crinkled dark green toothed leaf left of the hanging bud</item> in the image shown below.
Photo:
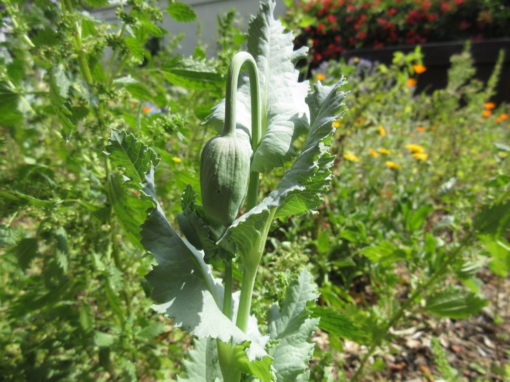
<path fill-rule="evenodd" d="M 111 129 L 111 136 L 105 147 L 106 153 L 115 166 L 123 167 L 124 175 L 132 184 L 139 186 L 145 179 L 150 166 L 157 167 L 160 158 L 156 151 L 125 131 Z"/>

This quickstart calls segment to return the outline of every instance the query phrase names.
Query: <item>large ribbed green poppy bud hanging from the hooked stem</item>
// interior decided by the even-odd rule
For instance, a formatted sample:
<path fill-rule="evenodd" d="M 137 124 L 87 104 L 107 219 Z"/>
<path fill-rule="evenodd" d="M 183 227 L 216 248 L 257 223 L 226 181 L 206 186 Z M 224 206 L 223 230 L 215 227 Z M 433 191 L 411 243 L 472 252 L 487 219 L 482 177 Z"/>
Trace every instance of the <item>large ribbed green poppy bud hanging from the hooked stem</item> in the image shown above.
<path fill-rule="evenodd" d="M 200 188 L 206 213 L 227 227 L 243 205 L 250 173 L 251 146 L 235 133 L 216 135 L 203 148 Z"/>

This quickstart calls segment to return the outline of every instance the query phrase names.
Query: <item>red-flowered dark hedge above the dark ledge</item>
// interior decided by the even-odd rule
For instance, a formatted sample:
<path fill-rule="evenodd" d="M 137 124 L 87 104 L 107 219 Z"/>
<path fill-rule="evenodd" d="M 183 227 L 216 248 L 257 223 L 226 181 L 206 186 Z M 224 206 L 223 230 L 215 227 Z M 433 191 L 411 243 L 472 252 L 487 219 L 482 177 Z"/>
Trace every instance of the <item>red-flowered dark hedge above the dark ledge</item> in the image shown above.
<path fill-rule="evenodd" d="M 302 0 L 298 8 L 316 20 L 296 38 L 313 41 L 314 64 L 348 49 L 510 34 L 510 7 L 499 0 Z"/>

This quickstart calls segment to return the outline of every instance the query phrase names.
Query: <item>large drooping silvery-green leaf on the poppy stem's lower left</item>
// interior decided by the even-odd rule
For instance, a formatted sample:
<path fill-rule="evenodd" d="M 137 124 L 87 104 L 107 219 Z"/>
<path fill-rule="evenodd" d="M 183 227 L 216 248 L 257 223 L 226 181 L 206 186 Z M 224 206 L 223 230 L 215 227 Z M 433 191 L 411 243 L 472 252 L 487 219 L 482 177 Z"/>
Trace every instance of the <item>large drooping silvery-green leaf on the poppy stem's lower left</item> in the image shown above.
<path fill-rule="evenodd" d="M 141 227 L 142 245 L 158 262 L 146 276 L 154 288 L 152 298 L 159 304 L 153 308 L 172 317 L 173 325 L 190 335 L 244 349 L 237 352 L 240 369 L 264 382 L 273 380 L 272 358 L 261 346 L 260 336 L 243 333 L 221 312 L 221 281 L 213 277 L 203 252 L 183 240 L 166 219 L 156 198 L 154 168 L 145 174 L 143 192 L 157 204 Z"/>

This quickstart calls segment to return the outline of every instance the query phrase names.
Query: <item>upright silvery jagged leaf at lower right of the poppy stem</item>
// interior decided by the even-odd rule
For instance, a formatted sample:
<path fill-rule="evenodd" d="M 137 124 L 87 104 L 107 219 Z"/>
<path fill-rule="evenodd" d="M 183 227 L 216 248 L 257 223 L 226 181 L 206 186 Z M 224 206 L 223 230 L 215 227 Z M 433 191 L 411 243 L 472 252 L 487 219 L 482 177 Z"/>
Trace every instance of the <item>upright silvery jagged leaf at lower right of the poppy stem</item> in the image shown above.
<path fill-rule="evenodd" d="M 278 345 L 269 350 L 278 382 L 295 382 L 308 367 L 314 350 L 314 344 L 308 341 L 317 330 L 319 319 L 311 318 L 306 308 L 307 303 L 319 297 L 316 289 L 312 275 L 303 268 L 297 280 L 287 287 L 282 310 L 278 304 L 269 310 L 269 334 L 271 340 L 279 340 Z M 305 376 L 301 378 L 308 380 Z"/>

